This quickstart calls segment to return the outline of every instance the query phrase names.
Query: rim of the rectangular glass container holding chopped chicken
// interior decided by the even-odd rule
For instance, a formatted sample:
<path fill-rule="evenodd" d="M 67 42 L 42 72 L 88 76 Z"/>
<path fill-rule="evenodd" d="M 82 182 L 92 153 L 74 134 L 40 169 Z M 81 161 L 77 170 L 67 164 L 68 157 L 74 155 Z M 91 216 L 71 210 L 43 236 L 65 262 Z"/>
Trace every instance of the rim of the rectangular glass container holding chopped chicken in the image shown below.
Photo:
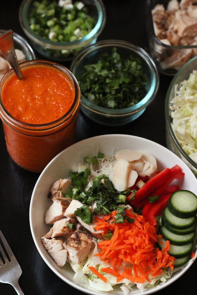
<path fill-rule="evenodd" d="M 197 48 L 197 45 L 167 45 L 167 44 L 164 44 L 162 43 L 158 38 L 157 36 L 155 35 L 155 32 L 154 32 L 154 26 L 153 26 L 153 19 L 152 19 L 152 1 L 151 0 L 146 0 L 148 4 L 148 17 L 150 17 L 150 19 L 152 20 L 151 21 L 151 27 L 149 29 L 151 29 L 151 32 L 152 32 L 152 36 L 154 38 L 154 40 L 161 46 L 163 46 L 164 48 L 166 49 L 176 49 L 176 50 L 181 50 L 181 49 L 194 49 L 194 48 Z"/>

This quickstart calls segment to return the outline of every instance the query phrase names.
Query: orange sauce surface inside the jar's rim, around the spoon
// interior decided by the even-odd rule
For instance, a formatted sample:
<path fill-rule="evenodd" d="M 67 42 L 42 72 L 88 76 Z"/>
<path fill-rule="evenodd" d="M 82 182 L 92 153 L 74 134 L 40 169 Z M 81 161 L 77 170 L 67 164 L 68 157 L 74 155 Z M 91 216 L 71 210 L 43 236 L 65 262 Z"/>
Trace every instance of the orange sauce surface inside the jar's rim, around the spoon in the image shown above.
<path fill-rule="evenodd" d="M 22 80 L 9 77 L 2 89 L 1 99 L 10 115 L 22 122 L 45 124 L 68 112 L 74 90 L 66 74 L 35 65 L 22 69 L 22 74 Z"/>

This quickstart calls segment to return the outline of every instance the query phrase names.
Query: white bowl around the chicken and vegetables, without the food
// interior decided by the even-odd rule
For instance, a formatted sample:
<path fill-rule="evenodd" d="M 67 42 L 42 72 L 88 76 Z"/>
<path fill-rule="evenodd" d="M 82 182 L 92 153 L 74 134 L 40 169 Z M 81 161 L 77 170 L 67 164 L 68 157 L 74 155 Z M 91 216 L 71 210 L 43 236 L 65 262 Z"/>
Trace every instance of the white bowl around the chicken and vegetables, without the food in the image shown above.
<path fill-rule="evenodd" d="M 106 292 L 96 291 L 85 283 L 77 283 L 74 281 L 74 271 L 72 271 L 69 263 L 63 268 L 59 268 L 43 247 L 41 237 L 49 230 L 49 226 L 44 222 L 44 214 L 50 203 L 50 199 L 47 198 L 47 195 L 51 185 L 59 178 L 68 177 L 72 165 L 82 162 L 85 156 L 93 157 L 94 155 L 97 155 L 98 150 L 105 154 L 113 154 L 115 151 L 121 149 L 144 150 L 151 153 L 157 159 L 159 170 L 166 167 L 171 168 L 176 164 L 179 165 L 185 173 L 184 179 L 179 181 L 180 189 L 190 190 L 197 195 L 197 179 L 187 165 L 185 165 L 185 163 L 170 150 L 141 137 L 115 134 L 88 138 L 71 145 L 51 160 L 38 178 L 32 193 L 30 204 L 30 227 L 33 240 L 40 255 L 51 270 L 63 281 L 87 294 L 100 295 L 106 294 Z M 153 294 L 154 292 L 167 287 L 182 276 L 192 265 L 193 261 L 175 272 L 164 284 L 158 284 L 155 288 L 146 289 L 143 294 Z M 137 288 L 132 291 L 132 295 L 140 293 L 140 290 Z M 114 288 L 114 291 L 110 291 L 110 294 L 120 294 L 119 287 L 117 289 Z"/>

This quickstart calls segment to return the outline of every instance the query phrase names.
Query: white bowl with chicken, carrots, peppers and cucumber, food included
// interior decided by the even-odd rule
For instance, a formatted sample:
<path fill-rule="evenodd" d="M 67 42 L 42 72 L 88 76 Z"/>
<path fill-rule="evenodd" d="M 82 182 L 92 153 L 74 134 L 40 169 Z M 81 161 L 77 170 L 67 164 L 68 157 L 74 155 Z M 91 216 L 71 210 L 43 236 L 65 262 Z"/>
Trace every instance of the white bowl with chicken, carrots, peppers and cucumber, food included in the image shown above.
<path fill-rule="evenodd" d="M 117 134 L 88 138 L 58 154 L 38 178 L 30 204 L 32 237 L 51 270 L 84 293 L 152 294 L 197 257 L 196 184 L 188 166 L 155 142 Z M 185 208 L 178 219 L 168 212 L 172 192 L 191 198 L 185 218 Z M 170 245 L 164 210 L 163 220 L 181 219 L 172 224 L 178 234 L 169 234 Z"/>

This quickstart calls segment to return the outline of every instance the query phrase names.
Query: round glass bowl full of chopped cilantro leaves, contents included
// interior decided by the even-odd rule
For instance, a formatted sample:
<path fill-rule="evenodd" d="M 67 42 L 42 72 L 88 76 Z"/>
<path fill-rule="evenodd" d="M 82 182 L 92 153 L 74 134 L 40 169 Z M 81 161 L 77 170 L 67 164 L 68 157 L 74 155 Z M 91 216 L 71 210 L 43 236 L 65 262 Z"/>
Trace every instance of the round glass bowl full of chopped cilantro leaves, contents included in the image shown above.
<path fill-rule="evenodd" d="M 148 53 L 122 40 L 89 45 L 70 69 L 79 82 L 82 112 L 108 126 L 137 119 L 159 86 L 157 68 Z"/>

